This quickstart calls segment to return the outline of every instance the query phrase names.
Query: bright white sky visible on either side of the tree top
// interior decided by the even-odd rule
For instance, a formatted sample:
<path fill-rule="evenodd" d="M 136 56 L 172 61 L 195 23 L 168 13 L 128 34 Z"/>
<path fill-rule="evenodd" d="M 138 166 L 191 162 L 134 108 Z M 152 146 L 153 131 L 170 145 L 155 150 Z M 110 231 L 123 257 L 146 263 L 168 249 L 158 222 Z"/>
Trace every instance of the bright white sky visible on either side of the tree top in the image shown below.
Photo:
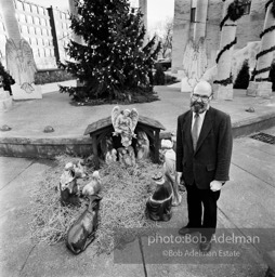
<path fill-rule="evenodd" d="M 139 2 L 139 0 L 132 0 Z M 68 10 L 68 0 L 28 0 L 36 4 L 53 8 L 57 6 L 60 10 Z M 161 26 L 161 23 L 173 17 L 174 0 L 147 0 L 148 13 L 148 29 L 154 30 Z"/>

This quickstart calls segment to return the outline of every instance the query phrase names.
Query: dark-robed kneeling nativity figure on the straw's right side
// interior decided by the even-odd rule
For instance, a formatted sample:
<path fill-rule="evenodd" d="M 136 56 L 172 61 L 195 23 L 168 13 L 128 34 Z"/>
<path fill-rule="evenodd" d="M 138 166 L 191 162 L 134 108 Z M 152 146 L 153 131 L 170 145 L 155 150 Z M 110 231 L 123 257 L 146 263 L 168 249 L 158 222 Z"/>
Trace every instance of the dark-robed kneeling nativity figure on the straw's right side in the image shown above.
<path fill-rule="evenodd" d="M 169 221 L 172 216 L 172 187 L 162 173 L 153 176 L 157 187 L 146 201 L 145 214 L 153 221 Z"/>

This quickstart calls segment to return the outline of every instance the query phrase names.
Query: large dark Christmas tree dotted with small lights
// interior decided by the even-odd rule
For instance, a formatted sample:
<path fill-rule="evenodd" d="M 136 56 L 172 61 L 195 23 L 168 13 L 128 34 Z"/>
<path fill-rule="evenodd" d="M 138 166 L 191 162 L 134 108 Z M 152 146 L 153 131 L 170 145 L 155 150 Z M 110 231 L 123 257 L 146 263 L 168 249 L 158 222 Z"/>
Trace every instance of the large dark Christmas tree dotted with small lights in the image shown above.
<path fill-rule="evenodd" d="M 70 27 L 84 43 L 70 40 L 66 48 L 70 61 L 60 66 L 83 87 L 61 87 L 61 92 L 86 102 L 153 93 L 152 70 L 160 43 L 155 45 L 154 37 L 144 44 L 141 11 L 131 9 L 127 0 L 82 0 L 76 6 L 79 16 L 70 16 Z"/>

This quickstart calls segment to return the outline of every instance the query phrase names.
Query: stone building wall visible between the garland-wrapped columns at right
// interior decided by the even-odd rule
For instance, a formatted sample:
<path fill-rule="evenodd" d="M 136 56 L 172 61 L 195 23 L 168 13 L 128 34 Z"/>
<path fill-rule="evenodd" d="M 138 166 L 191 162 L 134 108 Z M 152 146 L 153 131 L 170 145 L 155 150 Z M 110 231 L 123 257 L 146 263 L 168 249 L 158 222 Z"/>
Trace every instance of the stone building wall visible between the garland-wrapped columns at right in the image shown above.
<path fill-rule="evenodd" d="M 186 43 L 194 38 L 194 27 L 199 18 L 196 14 L 196 0 L 174 0 L 174 26 L 172 41 L 172 70 L 183 68 L 182 61 Z M 251 41 L 260 41 L 265 17 L 265 1 L 247 0 L 245 3 L 246 14 L 238 21 L 237 44 L 234 51 L 243 49 Z M 206 23 L 206 48 L 208 67 L 215 64 L 217 53 L 220 47 L 220 23 L 223 14 L 222 0 L 208 0 Z"/>

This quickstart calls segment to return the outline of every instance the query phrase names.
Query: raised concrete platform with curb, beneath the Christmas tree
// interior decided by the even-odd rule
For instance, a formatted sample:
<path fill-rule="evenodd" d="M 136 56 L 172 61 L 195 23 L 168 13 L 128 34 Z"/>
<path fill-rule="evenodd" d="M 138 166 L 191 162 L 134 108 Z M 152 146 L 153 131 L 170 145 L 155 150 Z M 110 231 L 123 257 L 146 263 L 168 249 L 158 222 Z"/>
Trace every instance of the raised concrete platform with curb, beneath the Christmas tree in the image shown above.
<path fill-rule="evenodd" d="M 160 121 L 166 131 L 175 132 L 178 116 L 189 108 L 189 94 L 181 93 L 176 85 L 159 85 L 155 91 L 160 101 L 120 107 L 135 107 L 140 115 Z M 43 94 L 42 100 L 14 102 L 13 108 L 0 117 L 0 127 L 12 128 L 0 132 L 0 155 L 31 158 L 50 158 L 66 151 L 89 155 L 92 141 L 83 135 L 87 127 L 110 116 L 116 104 L 73 106 L 69 102 L 69 96 L 60 92 Z M 231 115 L 235 137 L 275 126 L 274 95 L 249 97 L 245 90 L 235 90 L 233 101 L 213 100 L 211 105 Z M 251 106 L 256 111 L 246 111 Z M 55 131 L 43 133 L 45 126 Z"/>

